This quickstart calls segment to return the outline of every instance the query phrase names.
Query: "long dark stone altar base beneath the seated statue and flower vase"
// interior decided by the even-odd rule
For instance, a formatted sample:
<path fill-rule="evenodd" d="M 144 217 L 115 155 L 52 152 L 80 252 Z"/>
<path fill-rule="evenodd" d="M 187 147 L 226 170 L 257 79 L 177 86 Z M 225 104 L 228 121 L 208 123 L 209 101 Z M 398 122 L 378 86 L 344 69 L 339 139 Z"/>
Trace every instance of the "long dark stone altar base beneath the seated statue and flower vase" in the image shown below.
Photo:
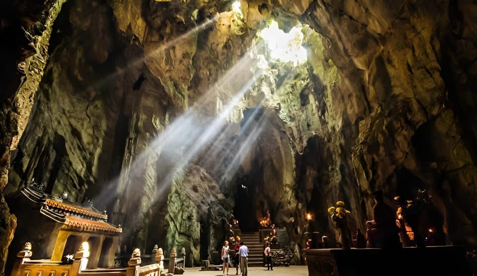
<path fill-rule="evenodd" d="M 309 276 L 470 276 L 463 246 L 303 250 Z"/>

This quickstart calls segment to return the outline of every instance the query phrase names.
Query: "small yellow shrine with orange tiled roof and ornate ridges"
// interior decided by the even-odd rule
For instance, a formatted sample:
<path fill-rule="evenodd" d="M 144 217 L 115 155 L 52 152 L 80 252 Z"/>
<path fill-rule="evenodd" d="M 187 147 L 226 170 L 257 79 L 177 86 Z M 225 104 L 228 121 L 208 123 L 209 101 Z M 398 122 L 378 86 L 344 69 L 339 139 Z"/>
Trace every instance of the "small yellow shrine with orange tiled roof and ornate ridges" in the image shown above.
<path fill-rule="evenodd" d="M 36 257 L 58 262 L 88 242 L 87 268 L 112 267 L 121 226 L 109 223 L 106 211 L 97 210 L 91 201 L 71 202 L 67 195 L 54 197 L 44 193 L 42 188 L 32 183 L 13 199 L 19 201 L 17 206 L 21 207 L 13 210 L 18 221 L 16 233 L 20 235 L 15 235 L 10 248 L 31 242 L 36 248 Z"/>

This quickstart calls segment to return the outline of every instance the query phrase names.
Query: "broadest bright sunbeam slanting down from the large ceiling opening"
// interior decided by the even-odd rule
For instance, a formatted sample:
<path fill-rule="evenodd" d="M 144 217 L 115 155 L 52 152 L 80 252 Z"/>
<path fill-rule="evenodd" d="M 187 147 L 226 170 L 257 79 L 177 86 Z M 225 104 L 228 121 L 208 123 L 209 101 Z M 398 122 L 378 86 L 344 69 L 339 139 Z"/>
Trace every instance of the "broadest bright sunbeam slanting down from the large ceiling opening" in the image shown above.
<path fill-rule="evenodd" d="M 153 195 L 156 195 L 151 201 L 151 204 L 154 204 L 158 200 L 158 196 L 170 187 L 174 175 L 186 170 L 187 166 L 198 156 L 206 144 L 222 135 L 221 130 L 228 125 L 227 117 L 237 108 L 244 94 L 249 91 L 263 73 L 259 69 L 251 72 L 251 77 L 244 79 L 247 76 L 244 72 L 250 72 L 250 69 L 255 67 L 256 62 L 249 54 L 243 55 L 239 62 L 217 81 L 214 87 L 211 87 L 196 101 L 194 106 L 175 119 L 156 138 L 153 138 L 133 161 L 125 162 L 119 179 L 106 186 L 117 186 L 116 195 L 122 197 L 127 194 L 130 198 L 128 200 L 129 204 L 137 205 L 140 195 L 144 191 L 142 191 L 142 185 L 136 183 L 144 183 L 147 177 L 151 177 L 151 175 L 147 175 L 146 166 L 151 165 L 154 161 L 159 162 L 158 169 L 166 171 L 166 173 L 163 175 L 158 173 L 156 177 L 160 177 L 160 179 L 157 182 L 154 179 L 152 180 L 156 182 L 155 191 L 151 191 Z M 222 111 L 213 118 L 201 116 L 199 112 L 201 106 L 210 102 L 211 98 L 214 98 L 211 95 L 215 96 L 214 93 L 217 93 L 217 91 L 225 91 L 225 87 L 233 87 L 236 91 L 229 92 L 232 97 L 224 105 Z M 154 178 L 154 176 L 152 177 Z M 116 199 L 111 195 L 111 189 L 107 187 L 94 200 L 109 206 Z M 121 209 L 130 210 L 133 207 L 131 205 L 122 206 Z M 141 211 L 141 213 L 135 215 L 132 219 L 128 219 L 130 227 L 124 229 L 123 236 L 131 234 L 130 231 L 135 231 L 133 226 L 135 221 L 141 219 L 144 215 L 143 212 L 147 210 L 138 209 L 138 211 Z M 120 211 L 115 210 L 115 212 Z"/>

